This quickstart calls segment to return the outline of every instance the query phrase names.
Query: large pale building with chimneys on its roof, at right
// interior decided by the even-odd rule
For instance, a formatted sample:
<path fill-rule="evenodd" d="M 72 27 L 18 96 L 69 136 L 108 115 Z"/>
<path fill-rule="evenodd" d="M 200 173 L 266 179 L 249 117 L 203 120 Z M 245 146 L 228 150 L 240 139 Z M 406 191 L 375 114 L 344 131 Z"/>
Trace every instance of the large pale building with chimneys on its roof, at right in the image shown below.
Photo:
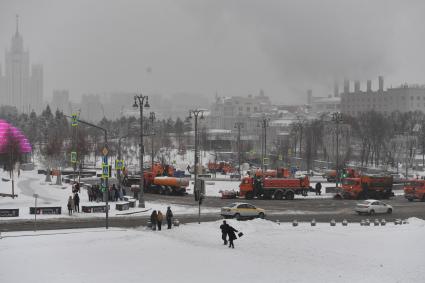
<path fill-rule="evenodd" d="M 385 115 L 393 111 L 425 112 L 425 86 L 404 84 L 384 90 L 384 79 L 379 77 L 377 91 L 372 91 L 372 82 L 368 81 L 366 91 L 361 91 L 360 83 L 356 82 L 354 92 L 346 90 L 342 93 L 342 113 L 359 116 L 371 110 Z"/>

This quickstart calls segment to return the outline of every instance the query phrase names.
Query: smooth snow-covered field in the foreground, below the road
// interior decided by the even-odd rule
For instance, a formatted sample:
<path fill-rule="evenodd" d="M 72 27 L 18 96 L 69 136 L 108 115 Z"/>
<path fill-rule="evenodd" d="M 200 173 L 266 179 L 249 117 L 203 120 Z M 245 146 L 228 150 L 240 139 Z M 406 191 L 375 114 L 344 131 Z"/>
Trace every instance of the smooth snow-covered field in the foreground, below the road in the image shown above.
<path fill-rule="evenodd" d="M 171 230 L 2 233 L 1 282 L 424 282 L 425 221 L 298 227 L 253 220 L 229 249 L 220 221 Z"/>

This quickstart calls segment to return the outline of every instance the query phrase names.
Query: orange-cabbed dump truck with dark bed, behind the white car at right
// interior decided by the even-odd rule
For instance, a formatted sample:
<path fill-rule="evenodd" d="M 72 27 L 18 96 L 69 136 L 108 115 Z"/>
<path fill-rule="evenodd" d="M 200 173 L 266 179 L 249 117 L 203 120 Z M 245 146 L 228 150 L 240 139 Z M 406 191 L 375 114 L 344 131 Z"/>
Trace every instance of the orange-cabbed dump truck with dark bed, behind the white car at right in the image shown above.
<path fill-rule="evenodd" d="M 394 196 L 392 176 L 363 175 L 358 178 L 343 178 L 337 189 L 337 199 L 387 199 Z"/>

